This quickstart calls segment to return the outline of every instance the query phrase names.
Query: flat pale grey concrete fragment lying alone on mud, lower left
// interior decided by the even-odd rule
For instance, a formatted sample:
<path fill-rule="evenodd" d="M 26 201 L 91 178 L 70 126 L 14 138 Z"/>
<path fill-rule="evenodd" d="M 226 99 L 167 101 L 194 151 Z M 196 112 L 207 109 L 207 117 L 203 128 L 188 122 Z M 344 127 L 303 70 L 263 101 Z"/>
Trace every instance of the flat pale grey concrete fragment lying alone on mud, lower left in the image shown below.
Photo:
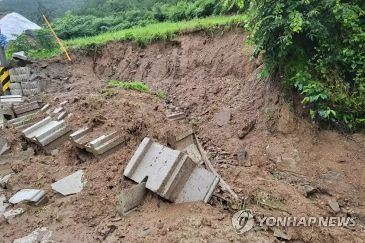
<path fill-rule="evenodd" d="M 76 194 L 81 192 L 86 183 L 87 179 L 84 176 L 84 171 L 79 170 L 72 175 L 65 177 L 51 185 L 52 189 L 61 193 L 64 196 Z"/>

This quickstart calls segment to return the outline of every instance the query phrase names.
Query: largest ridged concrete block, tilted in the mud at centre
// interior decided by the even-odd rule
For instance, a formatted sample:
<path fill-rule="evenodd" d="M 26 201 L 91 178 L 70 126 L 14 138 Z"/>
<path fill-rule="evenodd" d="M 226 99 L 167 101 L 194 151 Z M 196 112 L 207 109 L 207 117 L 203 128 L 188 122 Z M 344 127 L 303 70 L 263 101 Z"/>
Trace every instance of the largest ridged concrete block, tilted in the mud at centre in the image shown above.
<path fill-rule="evenodd" d="M 124 176 L 174 202 L 208 202 L 219 178 L 198 167 L 186 154 L 143 139 L 124 170 Z"/>

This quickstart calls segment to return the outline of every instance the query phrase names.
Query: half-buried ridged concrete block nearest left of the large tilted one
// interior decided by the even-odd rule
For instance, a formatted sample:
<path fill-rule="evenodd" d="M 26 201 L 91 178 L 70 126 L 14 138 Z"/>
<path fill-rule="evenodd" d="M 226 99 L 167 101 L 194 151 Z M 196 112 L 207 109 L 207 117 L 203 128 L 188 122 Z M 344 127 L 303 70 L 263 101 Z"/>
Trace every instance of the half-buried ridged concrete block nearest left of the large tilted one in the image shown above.
<path fill-rule="evenodd" d="M 97 160 L 120 150 L 126 146 L 127 139 L 122 132 L 113 132 L 109 135 L 103 135 L 85 144 L 86 151 L 92 153 Z"/>

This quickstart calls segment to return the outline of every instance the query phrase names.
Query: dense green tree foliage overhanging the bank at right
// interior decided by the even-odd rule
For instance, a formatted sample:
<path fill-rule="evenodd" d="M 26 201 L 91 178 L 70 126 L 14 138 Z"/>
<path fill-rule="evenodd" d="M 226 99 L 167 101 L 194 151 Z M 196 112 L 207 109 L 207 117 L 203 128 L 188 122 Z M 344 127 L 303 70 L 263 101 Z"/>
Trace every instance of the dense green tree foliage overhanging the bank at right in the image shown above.
<path fill-rule="evenodd" d="M 284 74 L 319 124 L 365 125 L 365 1 L 251 0 L 253 55 L 265 49 L 264 72 Z"/>

